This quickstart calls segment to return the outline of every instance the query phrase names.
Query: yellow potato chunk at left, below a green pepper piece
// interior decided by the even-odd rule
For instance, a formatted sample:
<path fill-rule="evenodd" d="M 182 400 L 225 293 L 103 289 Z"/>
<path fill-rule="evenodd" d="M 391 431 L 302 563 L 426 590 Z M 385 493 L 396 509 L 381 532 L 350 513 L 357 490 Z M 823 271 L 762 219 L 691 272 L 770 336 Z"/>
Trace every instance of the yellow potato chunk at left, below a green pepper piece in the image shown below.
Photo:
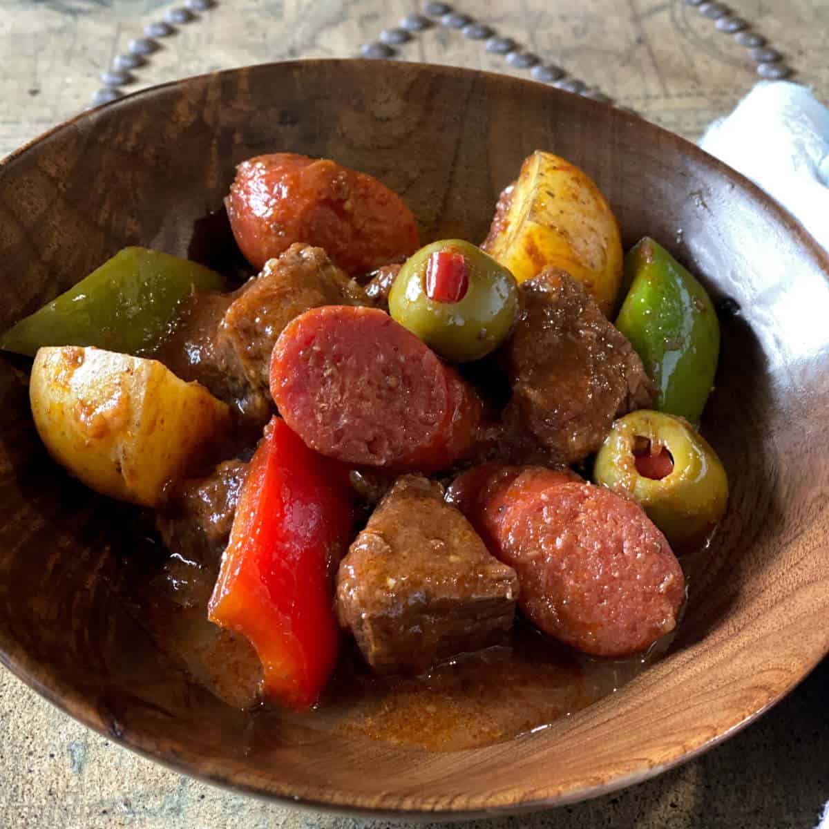
<path fill-rule="evenodd" d="M 29 398 L 58 463 L 96 492 L 145 507 L 230 428 L 227 406 L 198 383 L 94 347 L 37 351 Z"/>

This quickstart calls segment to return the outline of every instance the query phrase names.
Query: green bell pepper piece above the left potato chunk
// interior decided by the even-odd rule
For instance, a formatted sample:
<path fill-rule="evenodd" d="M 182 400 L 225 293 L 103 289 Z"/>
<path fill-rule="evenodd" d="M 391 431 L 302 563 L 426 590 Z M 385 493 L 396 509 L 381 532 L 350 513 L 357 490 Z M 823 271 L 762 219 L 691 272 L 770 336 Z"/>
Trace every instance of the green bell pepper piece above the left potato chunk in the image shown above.
<path fill-rule="evenodd" d="M 221 291 L 225 279 L 188 259 L 124 248 L 89 276 L 0 337 L 0 348 L 35 356 L 42 346 L 98 346 L 139 355 L 152 351 L 181 303 Z"/>

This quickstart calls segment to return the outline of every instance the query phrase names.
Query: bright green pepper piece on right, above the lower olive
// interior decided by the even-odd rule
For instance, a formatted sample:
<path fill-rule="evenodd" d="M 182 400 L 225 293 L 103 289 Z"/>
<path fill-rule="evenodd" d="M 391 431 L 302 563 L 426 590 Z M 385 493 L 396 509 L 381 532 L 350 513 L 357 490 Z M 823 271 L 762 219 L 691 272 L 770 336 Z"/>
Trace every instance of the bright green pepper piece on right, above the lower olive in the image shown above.
<path fill-rule="evenodd" d="M 705 288 L 647 236 L 625 257 L 630 288 L 616 327 L 656 387 L 654 409 L 698 423 L 720 356 L 720 322 Z"/>

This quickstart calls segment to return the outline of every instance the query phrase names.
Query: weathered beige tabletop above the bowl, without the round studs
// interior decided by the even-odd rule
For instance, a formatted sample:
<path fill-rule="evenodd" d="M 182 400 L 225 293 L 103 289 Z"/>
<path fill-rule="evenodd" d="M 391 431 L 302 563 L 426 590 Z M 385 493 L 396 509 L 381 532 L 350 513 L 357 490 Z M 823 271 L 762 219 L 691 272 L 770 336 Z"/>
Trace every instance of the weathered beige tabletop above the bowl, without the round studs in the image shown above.
<path fill-rule="evenodd" d="M 356 56 L 424 3 L 412 0 L 221 0 L 177 27 L 136 70 L 133 91 L 165 80 L 294 57 Z M 685 0 L 460 0 L 455 7 L 511 36 L 626 106 L 688 138 L 757 80 L 749 50 Z M 710 5 L 710 4 L 709 4 Z M 0 154 L 75 114 L 162 0 L 0 0 Z M 827 0 L 736 0 L 735 16 L 783 54 L 797 80 L 829 98 Z M 434 27 L 401 59 L 509 71 L 482 41 Z"/>

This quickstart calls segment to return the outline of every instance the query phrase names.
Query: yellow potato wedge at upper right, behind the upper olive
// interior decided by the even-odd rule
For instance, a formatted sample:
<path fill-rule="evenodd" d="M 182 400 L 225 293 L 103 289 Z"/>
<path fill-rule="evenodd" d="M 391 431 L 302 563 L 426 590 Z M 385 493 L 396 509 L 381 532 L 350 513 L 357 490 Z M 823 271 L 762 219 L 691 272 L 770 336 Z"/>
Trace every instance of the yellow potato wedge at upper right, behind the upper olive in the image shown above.
<path fill-rule="evenodd" d="M 605 316 L 622 281 L 622 242 L 599 187 L 579 167 L 536 150 L 502 192 L 482 250 L 518 283 L 547 267 L 584 285 Z"/>

